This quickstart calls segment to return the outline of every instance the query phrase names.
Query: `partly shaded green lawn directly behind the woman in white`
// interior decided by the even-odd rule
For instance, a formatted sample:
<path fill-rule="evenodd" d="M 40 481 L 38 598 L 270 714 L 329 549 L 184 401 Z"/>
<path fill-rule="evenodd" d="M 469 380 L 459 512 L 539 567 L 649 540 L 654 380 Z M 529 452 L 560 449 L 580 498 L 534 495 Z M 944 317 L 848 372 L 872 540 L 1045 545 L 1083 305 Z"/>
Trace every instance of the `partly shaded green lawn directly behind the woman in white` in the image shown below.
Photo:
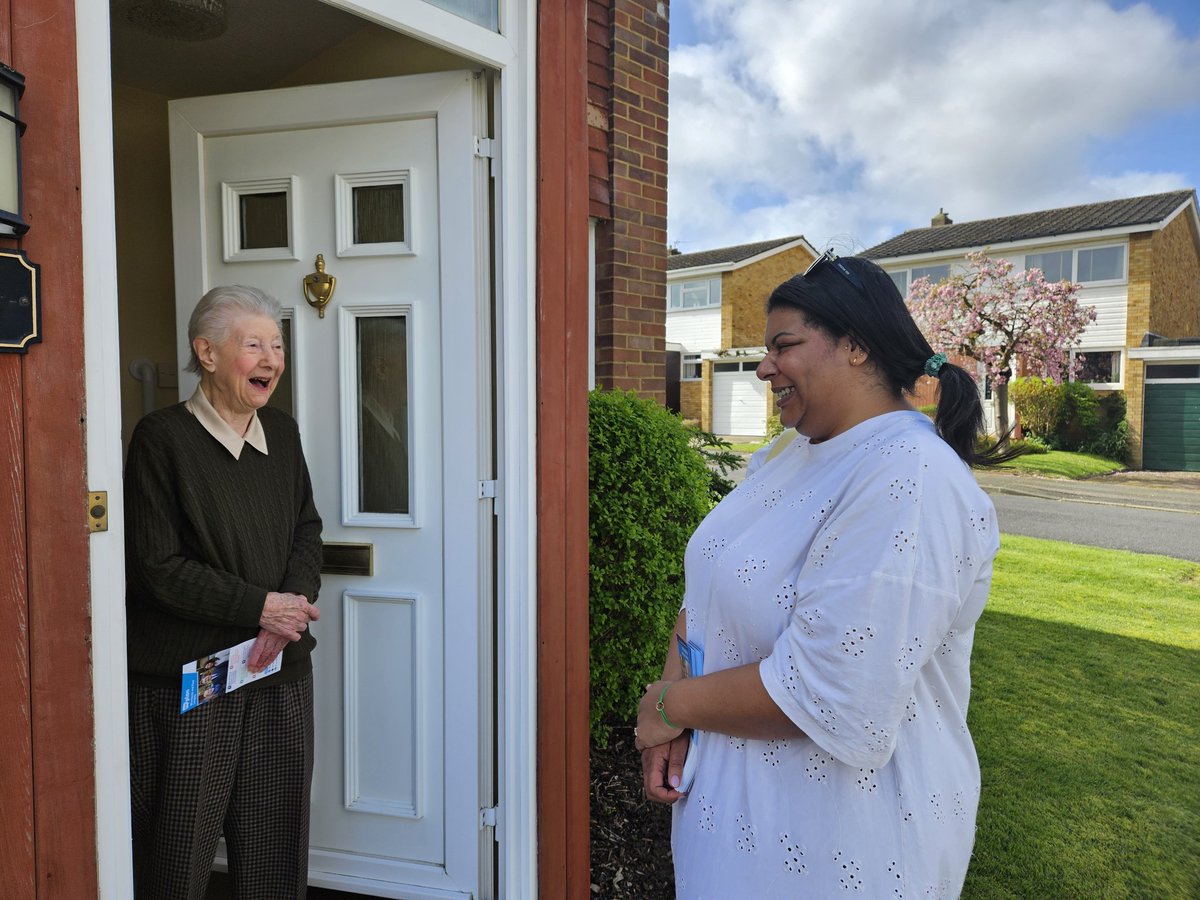
<path fill-rule="evenodd" d="M 1200 565 L 1003 535 L 962 896 L 1200 896 Z"/>

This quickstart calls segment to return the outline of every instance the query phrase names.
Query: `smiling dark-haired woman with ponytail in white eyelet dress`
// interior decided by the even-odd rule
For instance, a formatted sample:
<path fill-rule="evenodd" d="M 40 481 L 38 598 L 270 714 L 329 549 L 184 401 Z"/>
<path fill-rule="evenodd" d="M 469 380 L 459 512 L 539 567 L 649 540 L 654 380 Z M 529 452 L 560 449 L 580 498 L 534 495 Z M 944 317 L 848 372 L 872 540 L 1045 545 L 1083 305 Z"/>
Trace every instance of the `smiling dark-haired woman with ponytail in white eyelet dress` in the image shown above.
<path fill-rule="evenodd" d="M 674 804 L 677 895 L 958 896 L 980 784 L 971 644 L 1000 545 L 970 467 L 1007 454 L 977 450 L 974 380 L 868 260 L 827 253 L 780 284 L 766 344 L 794 439 L 696 529 L 676 628 L 703 674 L 672 642 L 637 719 L 647 796 Z M 907 401 L 922 374 L 936 421 Z"/>

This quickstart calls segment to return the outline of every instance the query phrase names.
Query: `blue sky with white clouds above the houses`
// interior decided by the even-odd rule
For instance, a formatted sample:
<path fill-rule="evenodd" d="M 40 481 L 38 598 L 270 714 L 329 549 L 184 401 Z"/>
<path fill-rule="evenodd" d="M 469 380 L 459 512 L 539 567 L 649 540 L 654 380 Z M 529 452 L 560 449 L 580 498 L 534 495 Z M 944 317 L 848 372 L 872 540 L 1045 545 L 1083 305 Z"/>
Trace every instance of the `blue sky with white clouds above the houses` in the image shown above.
<path fill-rule="evenodd" d="M 676 0 L 668 241 L 1200 187 L 1200 1 Z"/>

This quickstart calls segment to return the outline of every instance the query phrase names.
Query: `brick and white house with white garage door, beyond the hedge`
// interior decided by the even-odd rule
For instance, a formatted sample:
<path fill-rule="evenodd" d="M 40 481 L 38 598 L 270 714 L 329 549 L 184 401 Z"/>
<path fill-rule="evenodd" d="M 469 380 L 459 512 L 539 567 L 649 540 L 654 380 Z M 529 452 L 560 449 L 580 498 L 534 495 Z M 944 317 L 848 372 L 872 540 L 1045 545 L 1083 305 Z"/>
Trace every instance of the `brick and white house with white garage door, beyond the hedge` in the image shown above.
<path fill-rule="evenodd" d="M 767 433 L 774 398 L 755 376 L 767 298 L 816 257 L 796 235 L 667 258 L 670 408 L 716 434 Z"/>

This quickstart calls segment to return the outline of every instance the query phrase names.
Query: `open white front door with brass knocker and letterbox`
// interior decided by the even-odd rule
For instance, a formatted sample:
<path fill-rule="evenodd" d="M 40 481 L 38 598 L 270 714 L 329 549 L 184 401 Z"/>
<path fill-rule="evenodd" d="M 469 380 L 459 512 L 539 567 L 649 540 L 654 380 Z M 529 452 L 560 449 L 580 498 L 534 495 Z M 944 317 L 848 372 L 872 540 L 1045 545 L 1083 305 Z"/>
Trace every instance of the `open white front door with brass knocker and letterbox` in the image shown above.
<path fill-rule="evenodd" d="M 310 881 L 379 896 L 492 877 L 482 112 L 469 72 L 170 104 L 181 362 L 208 288 L 287 310 L 272 403 L 300 425 L 326 541 Z M 328 286 L 322 317 L 306 295 Z"/>

